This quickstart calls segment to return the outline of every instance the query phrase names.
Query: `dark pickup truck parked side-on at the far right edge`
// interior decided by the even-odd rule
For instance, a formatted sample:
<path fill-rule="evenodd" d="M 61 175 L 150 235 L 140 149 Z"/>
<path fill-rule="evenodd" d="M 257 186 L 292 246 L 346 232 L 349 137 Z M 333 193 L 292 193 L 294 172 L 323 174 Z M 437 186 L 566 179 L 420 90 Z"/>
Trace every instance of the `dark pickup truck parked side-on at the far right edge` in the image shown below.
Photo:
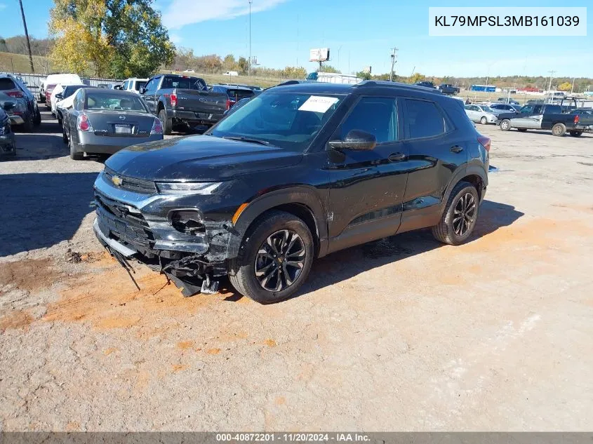
<path fill-rule="evenodd" d="M 580 136 L 593 126 L 593 117 L 580 114 L 564 114 L 560 105 L 524 105 L 518 114 L 499 114 L 500 129 L 552 130 L 552 135 L 563 136 L 567 131 L 573 137 Z"/>

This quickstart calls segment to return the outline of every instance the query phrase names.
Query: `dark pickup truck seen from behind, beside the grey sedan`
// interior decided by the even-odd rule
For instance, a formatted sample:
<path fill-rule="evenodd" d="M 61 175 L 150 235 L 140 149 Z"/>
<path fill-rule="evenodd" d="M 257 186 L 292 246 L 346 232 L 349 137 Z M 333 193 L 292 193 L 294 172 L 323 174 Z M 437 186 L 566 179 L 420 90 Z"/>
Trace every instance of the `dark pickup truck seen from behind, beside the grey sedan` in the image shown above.
<path fill-rule="evenodd" d="M 139 92 L 152 114 L 161 119 L 167 135 L 174 126 L 213 126 L 228 109 L 227 95 L 209 91 L 198 77 L 159 74 Z"/>

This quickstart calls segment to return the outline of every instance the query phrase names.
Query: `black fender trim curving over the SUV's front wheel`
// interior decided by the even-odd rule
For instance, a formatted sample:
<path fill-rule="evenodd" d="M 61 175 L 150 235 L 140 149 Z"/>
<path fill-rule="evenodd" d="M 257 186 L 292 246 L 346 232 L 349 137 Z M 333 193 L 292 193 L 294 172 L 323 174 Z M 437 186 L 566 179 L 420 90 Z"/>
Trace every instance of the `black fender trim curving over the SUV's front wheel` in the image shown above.
<path fill-rule="evenodd" d="M 286 189 L 276 189 L 253 199 L 249 202 L 234 224 L 234 232 L 229 240 L 227 257 L 239 255 L 241 242 L 253 221 L 267 210 L 286 204 L 299 204 L 304 206 L 313 215 L 315 230 L 319 239 L 319 257 L 324 256 L 327 250 L 328 227 L 325 206 L 319 194 L 312 187 L 298 186 Z"/>

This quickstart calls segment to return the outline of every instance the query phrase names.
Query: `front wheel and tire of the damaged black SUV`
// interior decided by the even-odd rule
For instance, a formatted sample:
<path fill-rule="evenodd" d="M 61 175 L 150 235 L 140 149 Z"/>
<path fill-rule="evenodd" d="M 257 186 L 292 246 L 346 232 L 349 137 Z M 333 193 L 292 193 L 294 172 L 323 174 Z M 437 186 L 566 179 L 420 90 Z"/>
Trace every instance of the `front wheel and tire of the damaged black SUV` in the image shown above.
<path fill-rule="evenodd" d="M 299 217 L 275 210 L 260 216 L 253 227 L 230 264 L 229 279 L 241 295 L 260 304 L 286 300 L 309 275 L 311 231 Z"/>

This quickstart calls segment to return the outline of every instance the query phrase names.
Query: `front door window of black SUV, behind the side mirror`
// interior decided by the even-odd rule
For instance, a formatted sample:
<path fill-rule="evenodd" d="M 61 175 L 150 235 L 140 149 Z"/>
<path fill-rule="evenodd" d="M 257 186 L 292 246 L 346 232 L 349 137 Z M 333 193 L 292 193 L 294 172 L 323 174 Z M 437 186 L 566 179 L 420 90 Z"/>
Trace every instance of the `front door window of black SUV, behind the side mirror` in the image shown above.
<path fill-rule="evenodd" d="M 363 97 L 342 123 L 341 139 L 344 140 L 351 130 L 371 133 L 377 138 L 377 143 L 397 140 L 397 100 Z"/>

